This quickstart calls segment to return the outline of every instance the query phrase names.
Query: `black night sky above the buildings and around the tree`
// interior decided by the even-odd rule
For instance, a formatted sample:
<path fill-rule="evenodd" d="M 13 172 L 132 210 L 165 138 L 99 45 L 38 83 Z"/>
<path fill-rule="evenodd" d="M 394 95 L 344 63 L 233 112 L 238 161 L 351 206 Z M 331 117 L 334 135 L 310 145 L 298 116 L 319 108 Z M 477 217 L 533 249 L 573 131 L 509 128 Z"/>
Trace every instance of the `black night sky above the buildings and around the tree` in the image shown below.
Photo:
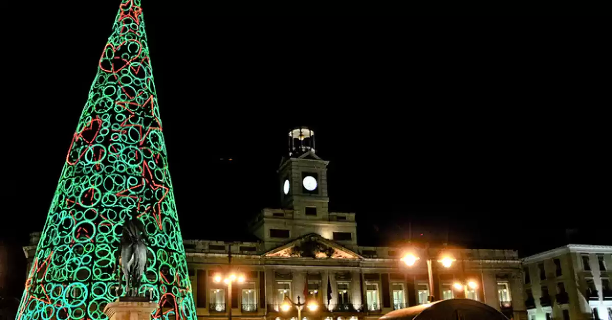
<path fill-rule="evenodd" d="M 4 34 L 0 237 L 20 276 L 118 9 L 101 2 L 15 8 L 29 22 Z M 185 238 L 241 240 L 277 207 L 286 132 L 301 125 L 360 245 L 401 243 L 409 223 L 416 237 L 449 230 L 451 243 L 522 255 L 611 243 L 597 32 L 143 9 Z"/>

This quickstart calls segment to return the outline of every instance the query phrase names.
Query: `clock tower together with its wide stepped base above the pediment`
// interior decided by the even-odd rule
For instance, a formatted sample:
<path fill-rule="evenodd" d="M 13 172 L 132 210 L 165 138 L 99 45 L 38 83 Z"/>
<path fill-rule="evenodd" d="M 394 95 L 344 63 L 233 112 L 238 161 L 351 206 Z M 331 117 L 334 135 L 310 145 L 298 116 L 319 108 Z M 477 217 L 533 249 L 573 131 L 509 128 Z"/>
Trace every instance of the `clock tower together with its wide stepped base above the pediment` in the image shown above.
<path fill-rule="evenodd" d="M 330 212 L 327 164 L 315 153 L 315 132 L 299 127 L 289 131 L 288 156 L 278 167 L 281 208 L 264 208 L 250 230 L 266 250 L 289 240 L 318 234 L 346 248 L 357 248 L 355 213 Z"/>

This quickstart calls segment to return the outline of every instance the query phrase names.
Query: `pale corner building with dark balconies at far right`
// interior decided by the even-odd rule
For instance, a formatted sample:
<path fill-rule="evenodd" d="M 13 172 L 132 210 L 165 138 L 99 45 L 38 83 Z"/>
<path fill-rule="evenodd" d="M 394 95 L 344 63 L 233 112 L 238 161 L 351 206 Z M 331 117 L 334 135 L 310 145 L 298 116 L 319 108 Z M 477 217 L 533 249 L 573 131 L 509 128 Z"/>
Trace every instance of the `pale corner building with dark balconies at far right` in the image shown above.
<path fill-rule="evenodd" d="M 612 320 L 612 246 L 567 245 L 523 262 L 529 320 Z"/>

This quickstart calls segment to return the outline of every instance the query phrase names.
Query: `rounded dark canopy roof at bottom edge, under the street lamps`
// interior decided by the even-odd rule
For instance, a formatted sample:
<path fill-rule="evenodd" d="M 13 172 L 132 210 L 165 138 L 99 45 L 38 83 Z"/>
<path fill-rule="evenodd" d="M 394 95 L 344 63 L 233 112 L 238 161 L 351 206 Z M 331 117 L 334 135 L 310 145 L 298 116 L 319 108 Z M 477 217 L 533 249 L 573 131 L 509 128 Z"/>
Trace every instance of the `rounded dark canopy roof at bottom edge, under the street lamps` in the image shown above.
<path fill-rule="evenodd" d="M 462 316 L 462 318 L 458 318 Z M 381 320 L 508 320 L 504 314 L 472 299 L 440 300 L 424 305 L 395 310 Z"/>

